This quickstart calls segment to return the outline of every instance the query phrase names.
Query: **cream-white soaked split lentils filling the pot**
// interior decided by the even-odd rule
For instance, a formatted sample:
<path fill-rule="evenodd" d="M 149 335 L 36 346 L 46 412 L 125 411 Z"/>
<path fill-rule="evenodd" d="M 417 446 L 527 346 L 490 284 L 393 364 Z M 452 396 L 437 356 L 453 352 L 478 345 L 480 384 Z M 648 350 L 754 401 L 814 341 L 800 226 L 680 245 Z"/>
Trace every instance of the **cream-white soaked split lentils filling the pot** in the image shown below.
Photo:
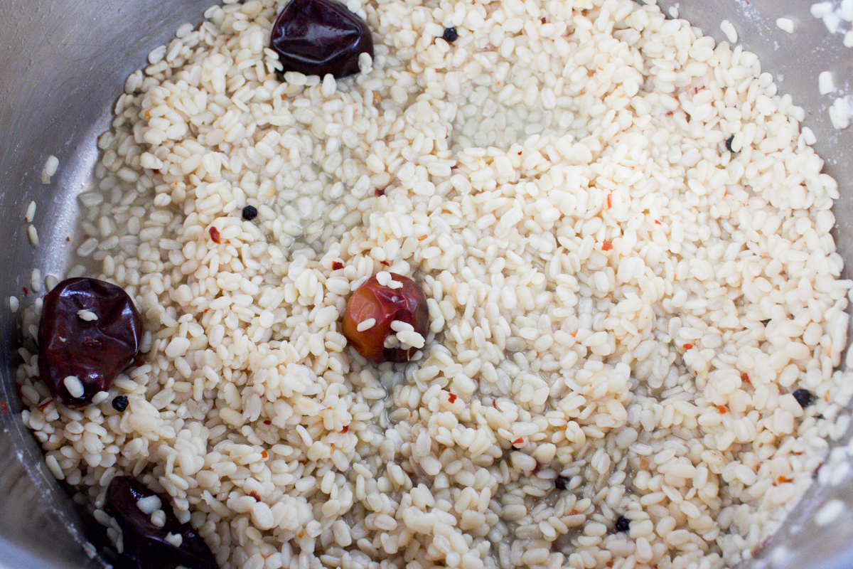
<path fill-rule="evenodd" d="M 853 391 L 803 109 L 631 0 L 351 0 L 363 73 L 281 81 L 282 5 L 215 6 L 127 79 L 78 253 L 146 353 L 69 409 L 21 351 L 56 477 L 100 508 L 136 476 L 223 569 L 756 554 Z M 381 270 L 427 293 L 415 362 L 341 333 Z"/>

